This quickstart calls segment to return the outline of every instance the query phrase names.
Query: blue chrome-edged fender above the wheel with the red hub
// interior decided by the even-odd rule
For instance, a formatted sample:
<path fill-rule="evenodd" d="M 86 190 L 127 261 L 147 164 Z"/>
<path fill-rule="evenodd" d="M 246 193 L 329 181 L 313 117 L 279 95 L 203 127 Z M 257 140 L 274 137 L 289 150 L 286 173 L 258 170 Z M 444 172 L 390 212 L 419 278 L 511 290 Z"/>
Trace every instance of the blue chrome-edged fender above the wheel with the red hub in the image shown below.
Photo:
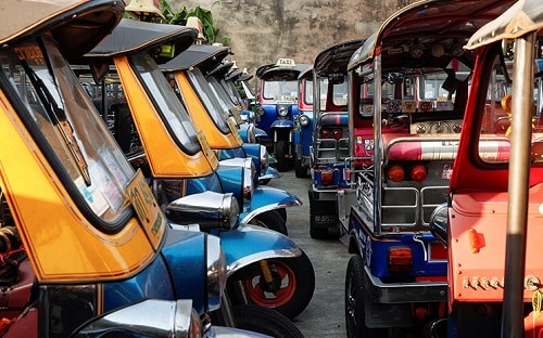
<path fill-rule="evenodd" d="M 218 234 L 226 257 L 228 276 L 239 269 L 269 258 L 291 258 L 302 255 L 291 238 L 278 232 L 241 223 Z"/>

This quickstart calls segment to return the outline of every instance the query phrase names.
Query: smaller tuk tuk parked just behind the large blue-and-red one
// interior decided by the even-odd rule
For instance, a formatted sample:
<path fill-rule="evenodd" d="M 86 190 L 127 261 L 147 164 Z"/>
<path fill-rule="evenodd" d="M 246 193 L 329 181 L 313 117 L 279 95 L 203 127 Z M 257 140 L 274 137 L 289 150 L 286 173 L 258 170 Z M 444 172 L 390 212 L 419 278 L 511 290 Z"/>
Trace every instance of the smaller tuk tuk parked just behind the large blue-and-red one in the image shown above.
<path fill-rule="evenodd" d="M 340 218 L 343 222 L 349 219 L 351 205 L 355 202 L 355 191 L 346 176 L 349 168 L 345 168 L 350 157 L 346 66 L 363 42 L 352 40 L 331 46 L 317 54 L 313 65 L 312 98 L 319 100 L 313 100 L 312 104 L 312 133 L 301 138 L 304 144 L 301 153 L 306 146 L 311 151 L 307 166 L 312 178 L 308 196 L 313 238 L 339 237 Z M 302 116 L 300 113 L 299 119 Z"/>

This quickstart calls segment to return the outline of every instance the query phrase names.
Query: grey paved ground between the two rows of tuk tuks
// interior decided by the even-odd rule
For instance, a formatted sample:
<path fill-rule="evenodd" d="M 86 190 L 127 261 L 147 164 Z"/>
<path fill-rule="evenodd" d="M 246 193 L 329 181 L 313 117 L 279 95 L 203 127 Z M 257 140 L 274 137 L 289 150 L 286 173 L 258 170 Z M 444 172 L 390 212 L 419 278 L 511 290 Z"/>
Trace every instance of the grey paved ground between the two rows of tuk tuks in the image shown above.
<path fill-rule="evenodd" d="M 286 190 L 296 195 L 303 206 L 288 209 L 289 236 L 307 253 L 315 269 L 315 294 L 310 306 L 294 324 L 307 338 L 346 337 L 344 318 L 344 278 L 350 255 L 337 240 L 313 239 L 310 236 L 310 179 L 295 178 L 294 171 L 281 172 L 280 179 L 268 186 Z"/>

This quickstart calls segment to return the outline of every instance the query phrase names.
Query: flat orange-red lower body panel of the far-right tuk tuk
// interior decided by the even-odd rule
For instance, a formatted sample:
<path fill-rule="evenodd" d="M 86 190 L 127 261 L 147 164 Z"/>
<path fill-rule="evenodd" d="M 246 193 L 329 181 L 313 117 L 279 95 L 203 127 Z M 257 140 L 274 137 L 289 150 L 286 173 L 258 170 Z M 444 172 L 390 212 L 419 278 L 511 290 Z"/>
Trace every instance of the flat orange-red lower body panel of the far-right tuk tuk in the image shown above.
<path fill-rule="evenodd" d="M 525 275 L 543 275 L 543 184 L 530 188 Z M 502 301 L 507 229 L 507 192 L 454 194 L 450 209 L 450 301 Z M 542 282 L 542 281 L 540 281 Z M 497 285 L 494 285 L 497 283 Z M 525 290 L 531 302 L 532 291 Z"/>

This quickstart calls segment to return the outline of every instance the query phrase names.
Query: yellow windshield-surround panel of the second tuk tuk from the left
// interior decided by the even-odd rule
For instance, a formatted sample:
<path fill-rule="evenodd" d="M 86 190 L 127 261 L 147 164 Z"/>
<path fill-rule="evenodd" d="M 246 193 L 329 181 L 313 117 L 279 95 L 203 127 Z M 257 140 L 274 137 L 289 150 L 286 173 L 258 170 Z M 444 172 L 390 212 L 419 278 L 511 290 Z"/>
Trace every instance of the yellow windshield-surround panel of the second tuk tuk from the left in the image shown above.
<path fill-rule="evenodd" d="M 189 155 L 180 150 L 130 68 L 128 58 L 116 56 L 114 61 L 153 177 L 181 179 L 212 173 L 218 166 L 217 157 L 205 156 L 203 152 Z"/>

